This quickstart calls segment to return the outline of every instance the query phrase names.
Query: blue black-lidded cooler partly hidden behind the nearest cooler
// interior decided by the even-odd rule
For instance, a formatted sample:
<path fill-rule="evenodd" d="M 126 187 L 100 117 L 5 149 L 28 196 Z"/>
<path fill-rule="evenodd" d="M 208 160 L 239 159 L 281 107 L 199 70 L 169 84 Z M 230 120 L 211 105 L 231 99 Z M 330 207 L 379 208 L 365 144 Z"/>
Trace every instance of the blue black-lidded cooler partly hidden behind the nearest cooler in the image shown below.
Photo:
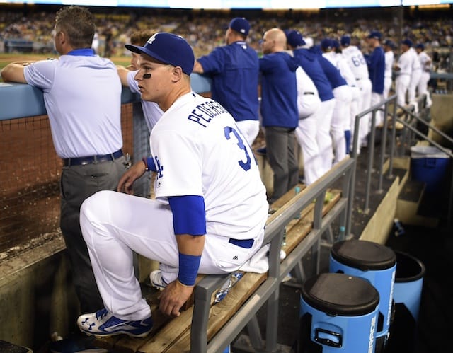
<path fill-rule="evenodd" d="M 389 339 L 396 274 L 394 250 L 372 241 L 338 241 L 331 248 L 329 271 L 361 277 L 379 292 L 376 352 L 383 352 Z"/>

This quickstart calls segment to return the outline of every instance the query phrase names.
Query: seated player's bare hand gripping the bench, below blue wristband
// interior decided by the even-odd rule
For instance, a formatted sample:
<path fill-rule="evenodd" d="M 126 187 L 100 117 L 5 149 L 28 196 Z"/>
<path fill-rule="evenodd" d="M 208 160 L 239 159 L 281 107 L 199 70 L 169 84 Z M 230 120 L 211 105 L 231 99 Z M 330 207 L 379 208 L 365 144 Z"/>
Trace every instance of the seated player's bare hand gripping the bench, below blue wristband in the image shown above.
<path fill-rule="evenodd" d="M 176 279 L 159 295 L 159 310 L 166 316 L 180 316 L 179 309 L 188 301 L 192 292 L 193 286 L 186 286 Z"/>

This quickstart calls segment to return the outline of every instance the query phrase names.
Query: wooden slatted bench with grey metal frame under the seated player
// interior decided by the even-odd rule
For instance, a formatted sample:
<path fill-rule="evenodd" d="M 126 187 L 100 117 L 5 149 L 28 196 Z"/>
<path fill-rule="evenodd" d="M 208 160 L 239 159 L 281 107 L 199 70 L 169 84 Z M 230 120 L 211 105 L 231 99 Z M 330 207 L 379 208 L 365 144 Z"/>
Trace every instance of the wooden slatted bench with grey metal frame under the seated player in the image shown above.
<path fill-rule="evenodd" d="M 350 177 L 354 163 L 346 158 L 310 187 L 298 185 L 300 192 L 290 190 L 272 205 L 276 211 L 266 223 L 264 242 L 270 244 L 268 272 L 243 272 L 243 277 L 224 299 L 215 304 L 215 294 L 231 274 L 198 276 L 193 302 L 188 303 L 178 318 L 162 315 L 158 309 L 159 291 L 142 284 L 154 320 L 151 333 L 144 338 L 125 335 L 99 338 L 96 345 L 114 353 L 223 352 L 246 325 L 249 333 L 260 335 L 255 314 L 267 302 L 265 345 L 266 349 L 275 350 L 280 283 L 294 267 L 301 266 L 302 257 L 309 252 L 312 272 L 319 272 L 321 236 L 338 217 L 344 225 L 348 204 L 347 182 L 343 183 L 343 190 L 329 186 L 344 175 Z M 282 246 L 284 233 L 285 245 Z M 280 249 L 287 254 L 284 260 L 280 260 Z M 260 340 L 255 337 L 255 341 Z"/>

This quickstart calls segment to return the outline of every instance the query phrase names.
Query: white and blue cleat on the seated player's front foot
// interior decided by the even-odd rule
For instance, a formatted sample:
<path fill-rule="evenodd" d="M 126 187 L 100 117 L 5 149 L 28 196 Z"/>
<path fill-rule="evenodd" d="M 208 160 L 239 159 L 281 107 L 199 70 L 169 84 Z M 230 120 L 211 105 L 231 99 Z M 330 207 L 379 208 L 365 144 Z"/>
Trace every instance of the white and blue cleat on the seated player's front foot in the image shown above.
<path fill-rule="evenodd" d="M 153 320 L 151 316 L 137 321 L 122 320 L 103 308 L 96 313 L 79 316 L 77 325 L 86 335 L 108 337 L 125 334 L 130 337 L 145 337 L 153 328 Z"/>

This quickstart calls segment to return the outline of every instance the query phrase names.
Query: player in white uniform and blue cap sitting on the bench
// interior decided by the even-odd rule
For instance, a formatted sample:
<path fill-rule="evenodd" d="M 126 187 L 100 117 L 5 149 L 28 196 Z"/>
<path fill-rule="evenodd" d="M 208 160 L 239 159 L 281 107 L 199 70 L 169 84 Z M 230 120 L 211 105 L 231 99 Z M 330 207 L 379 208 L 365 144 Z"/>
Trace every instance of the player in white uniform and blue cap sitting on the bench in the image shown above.
<path fill-rule="evenodd" d="M 132 166 L 117 191 L 81 207 L 81 228 L 104 308 L 77 320 L 88 335 L 144 337 L 151 308 L 134 275 L 133 253 L 161 263 L 151 284 L 159 310 L 179 316 L 197 274 L 224 274 L 246 264 L 263 243 L 268 202 L 251 147 L 222 105 L 190 88 L 195 58 L 183 37 L 156 33 L 139 53 L 142 99 L 164 115 L 150 137 L 151 157 Z M 156 199 L 135 197 L 132 183 L 157 173 Z"/>

